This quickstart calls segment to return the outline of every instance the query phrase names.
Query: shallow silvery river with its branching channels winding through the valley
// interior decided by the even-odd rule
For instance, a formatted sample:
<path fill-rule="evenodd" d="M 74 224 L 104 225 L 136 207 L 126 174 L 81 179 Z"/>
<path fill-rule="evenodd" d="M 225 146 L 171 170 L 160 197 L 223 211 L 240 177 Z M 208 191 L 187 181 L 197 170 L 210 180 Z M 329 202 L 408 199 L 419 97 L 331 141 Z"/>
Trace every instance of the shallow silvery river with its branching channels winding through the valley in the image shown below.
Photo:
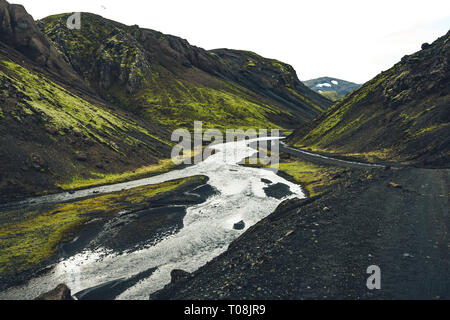
<path fill-rule="evenodd" d="M 248 141 L 218 144 L 213 148 L 216 153 L 199 164 L 148 179 L 95 188 L 106 193 L 193 175 L 208 176 L 208 183 L 218 190 L 218 194 L 202 204 L 188 207 L 184 227 L 178 233 L 133 252 L 116 254 L 99 249 L 77 254 L 60 261 L 52 271 L 32 279 L 28 284 L 0 293 L 0 299 L 32 299 L 59 283 L 67 284 L 72 294 L 75 294 L 86 288 L 128 278 L 156 267 L 157 270 L 150 277 L 116 297 L 148 299 L 150 293 L 170 282 L 171 270 L 197 270 L 223 253 L 233 240 L 272 213 L 282 201 L 305 197 L 299 185 L 279 177 L 273 171 L 240 166 L 238 163 L 242 159 L 255 153 L 248 146 Z M 266 196 L 263 188 L 267 184 L 261 179 L 288 185 L 292 195 L 281 200 Z M 73 195 L 64 193 L 48 196 L 45 200 L 34 199 L 33 202 L 73 199 L 82 197 L 85 192 L 92 194 L 92 191 Z M 21 205 L 25 205 L 25 202 Z M 245 222 L 245 229 L 234 230 L 233 225 L 241 220 Z"/>

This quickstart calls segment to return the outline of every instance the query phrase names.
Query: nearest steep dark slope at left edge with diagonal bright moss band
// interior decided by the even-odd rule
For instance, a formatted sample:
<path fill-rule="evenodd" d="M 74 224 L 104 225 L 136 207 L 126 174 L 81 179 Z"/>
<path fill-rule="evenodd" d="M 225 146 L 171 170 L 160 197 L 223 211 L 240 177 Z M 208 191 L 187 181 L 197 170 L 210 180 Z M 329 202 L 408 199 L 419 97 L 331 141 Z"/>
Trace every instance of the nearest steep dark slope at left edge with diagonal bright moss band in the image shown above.
<path fill-rule="evenodd" d="M 168 132 L 95 98 L 22 6 L 0 0 L 0 35 L 0 202 L 170 157 Z"/>

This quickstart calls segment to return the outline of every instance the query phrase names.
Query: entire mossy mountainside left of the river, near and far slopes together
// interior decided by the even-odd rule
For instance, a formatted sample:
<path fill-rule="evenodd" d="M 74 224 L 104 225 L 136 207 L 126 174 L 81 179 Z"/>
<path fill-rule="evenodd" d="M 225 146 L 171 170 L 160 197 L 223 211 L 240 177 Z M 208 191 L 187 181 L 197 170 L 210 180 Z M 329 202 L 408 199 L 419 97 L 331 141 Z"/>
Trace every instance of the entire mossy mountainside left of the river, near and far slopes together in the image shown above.
<path fill-rule="evenodd" d="M 161 171 L 174 128 L 294 128 L 330 103 L 282 62 L 0 0 L 0 202 Z"/>

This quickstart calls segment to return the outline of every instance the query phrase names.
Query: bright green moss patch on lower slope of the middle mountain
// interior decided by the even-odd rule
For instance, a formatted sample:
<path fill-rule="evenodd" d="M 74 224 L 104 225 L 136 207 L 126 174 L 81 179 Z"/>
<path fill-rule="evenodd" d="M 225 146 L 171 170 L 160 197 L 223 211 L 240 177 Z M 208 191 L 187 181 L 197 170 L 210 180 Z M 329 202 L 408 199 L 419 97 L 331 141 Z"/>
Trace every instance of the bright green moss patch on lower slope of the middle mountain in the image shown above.
<path fill-rule="evenodd" d="M 132 104 L 139 106 L 138 112 L 145 118 L 157 119 L 171 129 L 191 128 L 194 121 L 202 121 L 205 129 L 281 128 L 268 119 L 289 116 L 286 111 L 252 101 L 243 92 L 226 90 L 226 84 L 223 89 L 215 89 L 179 80 L 152 81 L 153 85 L 135 95 Z M 121 103 L 130 103 L 125 95 L 120 98 Z"/>

